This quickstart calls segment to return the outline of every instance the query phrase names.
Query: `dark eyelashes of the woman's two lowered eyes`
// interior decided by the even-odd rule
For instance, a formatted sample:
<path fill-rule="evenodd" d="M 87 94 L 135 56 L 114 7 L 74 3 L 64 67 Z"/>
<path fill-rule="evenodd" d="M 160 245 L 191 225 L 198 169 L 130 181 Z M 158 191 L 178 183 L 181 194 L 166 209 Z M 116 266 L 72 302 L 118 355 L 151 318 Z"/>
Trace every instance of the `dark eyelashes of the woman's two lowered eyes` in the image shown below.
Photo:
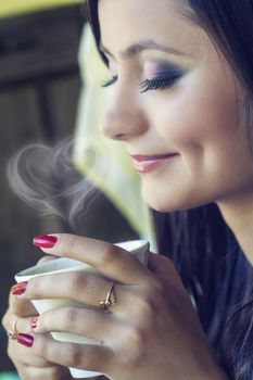
<path fill-rule="evenodd" d="M 157 77 L 154 79 L 144 79 L 141 83 L 141 91 L 140 93 L 147 92 L 147 91 L 155 91 L 155 90 L 165 90 L 169 87 L 173 87 L 173 85 L 180 78 L 181 75 L 177 74 L 170 77 Z M 114 85 L 118 79 L 118 76 L 115 75 L 107 81 L 102 84 L 102 87 L 110 87 Z"/>

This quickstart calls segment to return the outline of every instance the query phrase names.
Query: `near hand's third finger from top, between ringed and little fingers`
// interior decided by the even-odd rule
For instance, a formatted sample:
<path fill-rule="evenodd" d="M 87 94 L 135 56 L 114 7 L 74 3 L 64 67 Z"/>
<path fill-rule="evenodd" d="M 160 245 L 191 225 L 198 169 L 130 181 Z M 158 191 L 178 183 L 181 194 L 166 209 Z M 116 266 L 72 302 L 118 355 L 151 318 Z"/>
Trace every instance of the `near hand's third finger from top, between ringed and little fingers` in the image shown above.
<path fill-rule="evenodd" d="M 111 338 L 117 335 L 117 322 L 111 314 L 80 307 L 65 307 L 46 312 L 33 319 L 30 324 L 34 324 L 36 333 L 71 332 L 107 345 Z"/>

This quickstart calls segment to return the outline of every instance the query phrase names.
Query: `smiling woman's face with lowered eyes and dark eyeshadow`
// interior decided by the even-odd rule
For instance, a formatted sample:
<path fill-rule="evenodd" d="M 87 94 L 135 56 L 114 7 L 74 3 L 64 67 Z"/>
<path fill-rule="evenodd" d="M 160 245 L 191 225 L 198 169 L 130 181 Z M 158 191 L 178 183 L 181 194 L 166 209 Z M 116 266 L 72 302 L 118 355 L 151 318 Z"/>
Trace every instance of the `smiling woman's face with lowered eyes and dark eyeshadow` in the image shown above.
<path fill-rule="evenodd" d="M 242 89 L 173 0 L 100 0 L 112 97 L 103 134 L 126 142 L 159 211 L 237 200 L 253 188 Z"/>

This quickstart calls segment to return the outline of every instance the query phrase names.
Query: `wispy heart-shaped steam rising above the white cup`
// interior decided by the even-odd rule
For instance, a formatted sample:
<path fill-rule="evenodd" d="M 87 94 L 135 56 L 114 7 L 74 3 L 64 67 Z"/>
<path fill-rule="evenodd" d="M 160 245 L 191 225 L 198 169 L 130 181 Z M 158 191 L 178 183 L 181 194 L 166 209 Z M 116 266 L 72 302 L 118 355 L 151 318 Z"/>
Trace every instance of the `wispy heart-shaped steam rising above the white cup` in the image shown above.
<path fill-rule="evenodd" d="M 64 140 L 54 147 L 29 144 L 20 150 L 8 165 L 8 180 L 13 192 L 41 216 L 54 215 L 75 227 L 77 217 L 85 213 L 94 200 L 96 183 L 92 172 L 105 175 L 98 167 L 94 143 L 89 147 L 92 160 L 90 173 L 85 178 L 72 161 L 74 140 Z M 100 150 L 101 154 L 101 150 Z M 105 163 L 105 160 L 102 160 Z M 92 181 L 90 177 L 92 176 Z"/>

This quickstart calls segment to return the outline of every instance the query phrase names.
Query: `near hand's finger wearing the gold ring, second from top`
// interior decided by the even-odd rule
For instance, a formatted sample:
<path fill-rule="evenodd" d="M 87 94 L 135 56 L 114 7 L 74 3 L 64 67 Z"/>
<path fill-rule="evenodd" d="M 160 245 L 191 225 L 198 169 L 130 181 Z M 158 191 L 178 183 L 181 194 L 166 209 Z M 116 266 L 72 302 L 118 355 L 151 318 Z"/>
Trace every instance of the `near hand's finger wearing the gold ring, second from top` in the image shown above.
<path fill-rule="evenodd" d="M 73 300 L 88 306 L 100 307 L 100 302 L 106 299 L 111 288 L 112 281 L 102 277 L 84 271 L 61 273 L 30 279 L 25 292 L 18 297 Z M 114 287 L 114 295 L 121 300 L 121 305 L 124 304 L 126 290 L 121 284 Z"/>

